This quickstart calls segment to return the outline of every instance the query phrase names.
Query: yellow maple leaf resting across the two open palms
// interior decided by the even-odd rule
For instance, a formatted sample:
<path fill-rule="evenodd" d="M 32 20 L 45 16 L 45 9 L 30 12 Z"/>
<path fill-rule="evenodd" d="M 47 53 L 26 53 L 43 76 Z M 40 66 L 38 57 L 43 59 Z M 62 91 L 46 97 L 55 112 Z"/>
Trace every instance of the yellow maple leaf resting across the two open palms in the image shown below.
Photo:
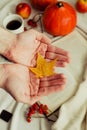
<path fill-rule="evenodd" d="M 57 59 L 47 62 L 40 54 L 37 57 L 37 66 L 29 69 L 36 74 L 37 77 L 50 76 L 54 74 L 54 65 Z"/>

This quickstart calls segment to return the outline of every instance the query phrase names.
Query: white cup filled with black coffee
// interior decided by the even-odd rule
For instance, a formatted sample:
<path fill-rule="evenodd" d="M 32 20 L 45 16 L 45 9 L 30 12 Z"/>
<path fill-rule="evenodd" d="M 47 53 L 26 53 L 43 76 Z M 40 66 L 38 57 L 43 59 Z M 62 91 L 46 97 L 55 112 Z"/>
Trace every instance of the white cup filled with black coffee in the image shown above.
<path fill-rule="evenodd" d="M 9 14 L 3 20 L 3 27 L 15 34 L 24 31 L 24 20 L 18 14 Z"/>

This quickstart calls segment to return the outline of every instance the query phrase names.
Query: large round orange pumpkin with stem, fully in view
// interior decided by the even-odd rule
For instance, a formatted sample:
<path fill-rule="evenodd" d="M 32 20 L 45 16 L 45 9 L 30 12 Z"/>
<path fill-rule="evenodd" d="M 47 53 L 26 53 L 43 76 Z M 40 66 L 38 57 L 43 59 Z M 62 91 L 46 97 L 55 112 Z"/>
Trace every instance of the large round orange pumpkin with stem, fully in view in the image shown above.
<path fill-rule="evenodd" d="M 45 30 L 54 36 L 63 36 L 72 32 L 76 26 L 76 21 L 75 9 L 63 1 L 49 5 L 42 16 Z"/>

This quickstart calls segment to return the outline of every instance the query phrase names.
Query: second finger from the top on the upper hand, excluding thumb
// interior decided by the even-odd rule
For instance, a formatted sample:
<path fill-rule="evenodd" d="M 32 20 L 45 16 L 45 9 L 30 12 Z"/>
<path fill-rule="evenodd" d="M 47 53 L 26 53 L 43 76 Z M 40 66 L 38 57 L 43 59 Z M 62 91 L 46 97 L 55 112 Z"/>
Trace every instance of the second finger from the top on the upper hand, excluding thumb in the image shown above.
<path fill-rule="evenodd" d="M 58 61 L 63 61 L 63 62 L 67 62 L 67 63 L 70 62 L 70 58 L 68 56 L 61 55 L 59 53 L 54 53 L 54 52 L 48 52 L 47 51 L 46 54 L 45 54 L 45 57 L 46 57 L 46 59 L 50 59 L 50 60 L 58 58 Z"/>

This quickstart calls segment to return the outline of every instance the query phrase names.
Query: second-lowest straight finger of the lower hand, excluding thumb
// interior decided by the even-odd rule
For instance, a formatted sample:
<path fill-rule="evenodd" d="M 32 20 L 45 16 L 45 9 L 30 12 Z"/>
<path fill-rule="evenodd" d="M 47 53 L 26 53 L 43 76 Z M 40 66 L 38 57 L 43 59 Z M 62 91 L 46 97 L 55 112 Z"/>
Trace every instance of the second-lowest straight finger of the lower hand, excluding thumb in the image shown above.
<path fill-rule="evenodd" d="M 43 81 L 40 82 L 40 88 L 41 87 L 51 87 L 54 85 L 62 85 L 66 83 L 66 79 L 55 79 L 55 80 L 50 80 L 50 81 Z"/>

